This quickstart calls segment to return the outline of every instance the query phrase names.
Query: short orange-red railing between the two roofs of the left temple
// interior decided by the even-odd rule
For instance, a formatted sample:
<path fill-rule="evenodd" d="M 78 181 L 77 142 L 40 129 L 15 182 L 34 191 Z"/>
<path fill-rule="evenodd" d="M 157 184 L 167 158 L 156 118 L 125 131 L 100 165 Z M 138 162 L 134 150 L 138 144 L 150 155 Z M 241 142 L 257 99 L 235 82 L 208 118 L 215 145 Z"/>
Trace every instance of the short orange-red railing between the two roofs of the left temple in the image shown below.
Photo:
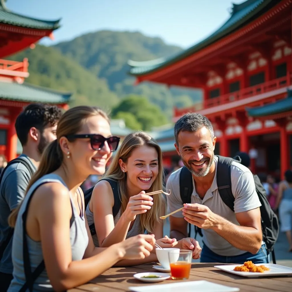
<path fill-rule="evenodd" d="M 0 59 L 0 79 L 14 79 L 22 83 L 29 76 L 28 59 L 24 58 L 22 62 Z"/>

